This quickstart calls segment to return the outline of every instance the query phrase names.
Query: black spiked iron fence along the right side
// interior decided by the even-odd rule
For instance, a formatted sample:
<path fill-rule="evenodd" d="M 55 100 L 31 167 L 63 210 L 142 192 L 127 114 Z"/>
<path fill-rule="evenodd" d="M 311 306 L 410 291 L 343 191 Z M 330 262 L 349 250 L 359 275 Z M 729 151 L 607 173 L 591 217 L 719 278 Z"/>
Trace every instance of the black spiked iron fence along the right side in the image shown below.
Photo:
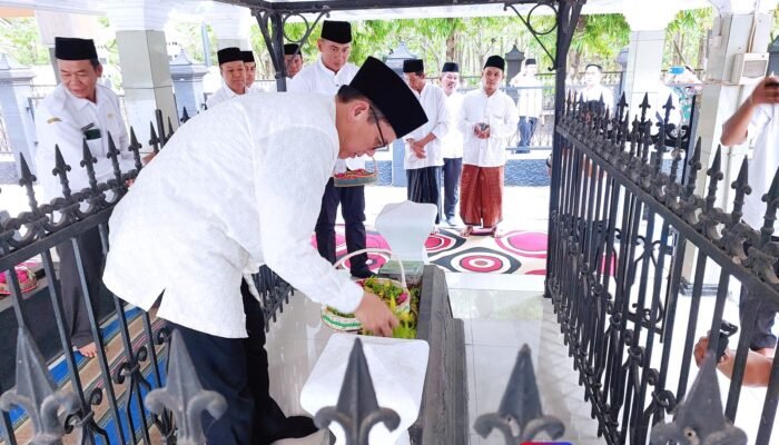
<path fill-rule="evenodd" d="M 654 116 L 649 108 L 644 98 L 640 118 L 631 121 L 624 97 L 610 116 L 569 96 L 556 128 L 561 149 L 552 162 L 546 295 L 607 443 L 745 444 L 747 436 L 732 425 L 739 409 L 747 409 L 738 419 L 756 424 L 746 428 L 752 433 L 749 443 L 767 445 L 779 400 L 779 362 L 763 382 L 767 390 L 742 383 L 747 357 L 753 354 L 749 340 L 756 316 L 779 304 L 773 269 L 779 244 L 771 239 L 779 172 L 762 197 L 765 225 L 756 230 L 741 221 L 750 192 L 746 160 L 731 185 L 732 210 L 716 207 L 723 177 L 720 149 L 706 171 L 706 196 L 696 195 L 700 141 L 687 174 L 680 174 L 687 157 L 682 138 L 667 154 L 668 132 L 653 131 L 668 128 L 670 102 L 662 122 L 648 118 Z M 663 171 L 668 156 L 671 165 Z M 697 259 L 687 299 L 679 290 L 686 254 L 691 253 Z M 719 276 L 713 300 L 701 298 L 707 273 Z M 722 328 L 729 284 L 736 280 L 747 289 L 746 309 L 734 357 L 728 356 L 728 383 L 713 368 L 732 334 Z M 708 344 L 696 345 L 698 335 Z M 696 350 L 697 359 L 708 350 L 708 370 L 689 386 Z M 724 411 L 720 385 L 728 388 Z M 691 402 L 682 406 L 684 397 Z M 762 400 L 760 412 L 752 411 L 756 397 Z M 670 415 L 674 421 L 664 424 Z"/>

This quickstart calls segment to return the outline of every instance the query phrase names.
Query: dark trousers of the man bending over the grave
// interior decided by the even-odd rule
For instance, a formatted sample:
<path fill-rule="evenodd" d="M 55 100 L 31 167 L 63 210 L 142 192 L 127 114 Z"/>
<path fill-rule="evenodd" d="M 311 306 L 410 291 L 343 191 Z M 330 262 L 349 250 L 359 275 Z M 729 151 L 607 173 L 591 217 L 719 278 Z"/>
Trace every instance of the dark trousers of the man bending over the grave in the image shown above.
<path fill-rule="evenodd" d="M 171 330 L 181 334 L 203 388 L 216 390 L 227 400 L 227 411 L 219 419 L 203 414 L 203 429 L 208 444 L 214 445 L 270 444 L 286 418 L 269 393 L 263 310 L 246 281 L 241 281 L 240 293 L 248 338 L 216 337 L 168 323 Z"/>

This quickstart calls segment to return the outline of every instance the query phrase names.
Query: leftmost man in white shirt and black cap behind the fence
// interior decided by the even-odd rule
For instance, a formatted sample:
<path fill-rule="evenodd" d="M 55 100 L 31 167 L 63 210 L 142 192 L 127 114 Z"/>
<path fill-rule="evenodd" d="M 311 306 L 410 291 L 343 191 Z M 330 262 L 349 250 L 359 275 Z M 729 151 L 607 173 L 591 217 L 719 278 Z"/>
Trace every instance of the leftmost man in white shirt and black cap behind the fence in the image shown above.
<path fill-rule="evenodd" d="M 122 171 L 135 168 L 135 162 L 127 151 L 130 141 L 121 118 L 119 98 L 110 89 L 98 85 L 98 79 L 102 76 L 102 65 L 98 61 L 95 42 L 88 39 L 57 37 L 55 56 L 61 83 L 36 109 L 36 166 L 42 189 L 40 200 L 43 202 L 62 196 L 60 179 L 52 174 L 56 168 L 55 146 L 59 146 L 62 159 L 71 166 L 68 180 L 72 192 L 89 188 L 87 170 L 79 167 L 83 158 L 85 140 L 97 160 L 93 169 L 98 182 L 114 178 L 114 166 L 107 156 L 109 134 L 116 148 L 122 151 Z M 87 290 L 97 314 L 102 265 L 100 233 L 96 227 L 80 235 L 78 240 Z M 95 357 L 97 348 L 87 305 L 81 295 L 77 258 L 70 241 L 57 246 L 57 254 L 60 260 L 62 308 L 70 338 L 81 355 Z"/>

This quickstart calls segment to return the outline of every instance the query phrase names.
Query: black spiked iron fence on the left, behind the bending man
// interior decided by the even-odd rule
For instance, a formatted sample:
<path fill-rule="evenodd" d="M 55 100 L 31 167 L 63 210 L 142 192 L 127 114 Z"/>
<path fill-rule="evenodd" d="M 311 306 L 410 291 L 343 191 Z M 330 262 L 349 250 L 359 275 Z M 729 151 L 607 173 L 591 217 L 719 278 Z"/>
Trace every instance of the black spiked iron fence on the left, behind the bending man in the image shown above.
<path fill-rule="evenodd" d="M 157 151 L 174 130 L 170 119 L 166 130 L 159 110 L 155 120 L 157 130 L 152 125 L 149 145 Z M 181 413 L 156 409 L 154 407 L 160 406 L 160 402 L 155 404 L 148 399 L 155 400 L 151 395 L 166 383 L 171 383 L 174 374 L 166 373 L 166 365 L 172 365 L 174 357 L 180 362 L 180 355 L 186 352 L 169 352 L 168 329 L 156 318 L 154 310 L 147 314 L 129 307 L 114 295 L 91 293 L 82 264 L 86 247 L 81 237 L 90 231 L 99 231 L 105 258 L 108 219 L 114 206 L 127 191 L 126 184 L 134 180 L 142 168 L 140 145 L 132 129 L 130 138 L 127 150 L 132 154 L 136 168 L 122 172 L 118 162 L 120 150 L 109 135 L 108 157 L 114 164 L 115 176 L 106 182 L 97 181 L 91 168 L 95 158 L 85 145 L 80 167 L 90 178 L 90 187 L 83 190 L 69 188 L 69 171 L 79 166 L 66 165 L 57 149 L 55 172 L 60 178 L 62 196 L 48 204 L 38 201 L 32 187 L 36 177 L 27 160 L 21 158 L 19 184 L 27 190 L 29 210 L 0 221 L 0 273 L 10 289 L 11 303 L 0 306 L 0 314 L 13 313 L 3 317 L 0 328 L 3 343 L 17 338 L 16 366 L 11 367 L 11 372 L 16 368 L 16 376 L 2 373 L 0 377 L 0 438 L 9 444 L 56 444 L 66 434 L 77 437 L 79 443 L 188 443 L 186 438 L 190 432 L 176 432 L 176 426 L 189 425 L 191 418 L 181 422 L 177 417 Z M 61 270 L 51 253 L 52 248 L 63 245 L 72 246 L 76 253 L 79 288 L 97 344 L 97 357 L 91 362 L 73 352 L 70 327 L 65 317 L 62 290 L 57 279 Z M 26 288 L 33 278 L 19 274 L 19 270 L 27 270 L 33 258 L 40 259 L 37 280 L 39 287 L 45 287 L 49 294 L 48 305 L 41 301 L 41 289 Z M 19 266 L 22 264 L 26 266 Z M 288 303 L 293 289 L 267 268 L 254 279 L 266 320 L 275 319 L 276 313 Z M 33 295 L 36 291 L 39 294 Z M 100 299 L 103 307 L 106 300 L 112 307 L 98 312 L 100 305 L 96 303 Z M 46 355 L 39 345 L 47 346 Z M 13 348 L 13 345 L 9 347 Z M 179 377 L 191 382 L 191 369 L 177 374 L 176 378 Z"/>

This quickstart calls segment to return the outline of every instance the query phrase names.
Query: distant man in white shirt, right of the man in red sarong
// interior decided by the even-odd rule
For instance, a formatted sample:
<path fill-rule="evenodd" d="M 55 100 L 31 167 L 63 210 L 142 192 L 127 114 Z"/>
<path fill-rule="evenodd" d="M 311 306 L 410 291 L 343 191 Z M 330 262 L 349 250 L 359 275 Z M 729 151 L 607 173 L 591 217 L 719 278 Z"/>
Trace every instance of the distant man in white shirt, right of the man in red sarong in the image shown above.
<path fill-rule="evenodd" d="M 543 109 L 543 86 L 535 77 L 535 59 L 526 59 L 524 70 L 511 79 L 511 86 L 519 88 L 516 107 L 520 113 L 520 141 L 516 152 L 527 152 Z"/>

